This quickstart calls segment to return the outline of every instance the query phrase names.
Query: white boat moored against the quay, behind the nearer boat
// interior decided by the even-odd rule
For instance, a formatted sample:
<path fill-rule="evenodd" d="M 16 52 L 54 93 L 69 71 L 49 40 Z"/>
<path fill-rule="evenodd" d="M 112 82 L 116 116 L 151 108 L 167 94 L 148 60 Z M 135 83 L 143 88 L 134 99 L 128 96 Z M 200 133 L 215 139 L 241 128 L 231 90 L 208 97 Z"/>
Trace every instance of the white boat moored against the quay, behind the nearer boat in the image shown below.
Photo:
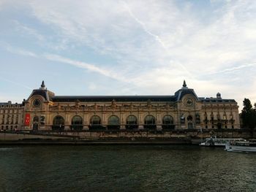
<path fill-rule="evenodd" d="M 206 142 L 201 142 L 200 146 L 212 146 L 212 147 L 225 147 L 227 143 L 231 142 L 245 142 L 245 139 L 241 138 L 217 138 L 217 137 L 211 137 L 206 138 Z"/>

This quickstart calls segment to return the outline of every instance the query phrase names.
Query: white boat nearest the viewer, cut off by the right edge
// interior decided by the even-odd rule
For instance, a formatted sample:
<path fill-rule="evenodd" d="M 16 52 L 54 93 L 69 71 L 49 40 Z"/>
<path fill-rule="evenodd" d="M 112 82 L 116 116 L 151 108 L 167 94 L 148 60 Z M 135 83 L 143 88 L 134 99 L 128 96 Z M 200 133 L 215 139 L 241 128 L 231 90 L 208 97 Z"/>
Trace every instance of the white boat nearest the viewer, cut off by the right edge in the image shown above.
<path fill-rule="evenodd" d="M 256 152 L 256 140 L 246 142 L 227 142 L 225 150 L 233 152 Z"/>

